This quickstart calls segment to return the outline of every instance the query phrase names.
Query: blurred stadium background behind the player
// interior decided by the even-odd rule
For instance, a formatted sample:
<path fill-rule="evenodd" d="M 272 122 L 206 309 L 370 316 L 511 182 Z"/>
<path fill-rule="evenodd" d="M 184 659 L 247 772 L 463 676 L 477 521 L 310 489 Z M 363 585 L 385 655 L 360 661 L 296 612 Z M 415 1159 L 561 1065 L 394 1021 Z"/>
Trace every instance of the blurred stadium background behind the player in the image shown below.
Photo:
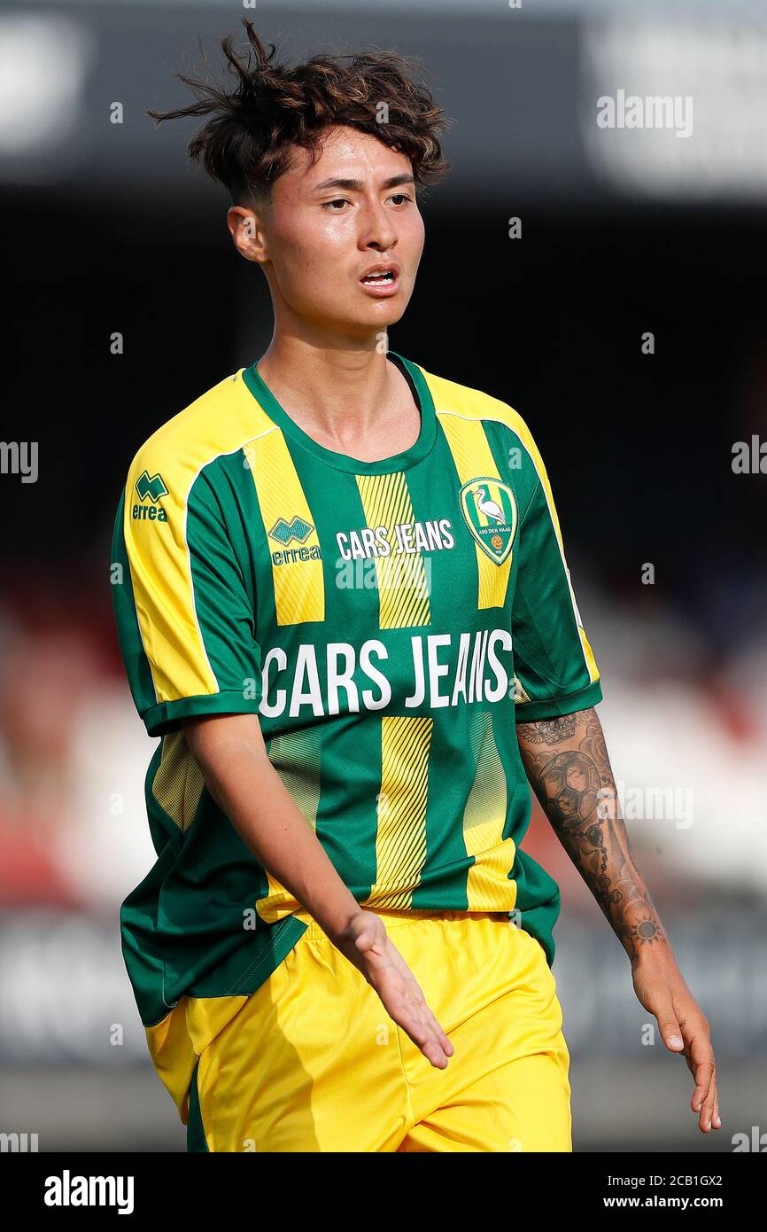
<path fill-rule="evenodd" d="M 735 442 L 767 440 L 767 14 L 737 0 L 0 12 L 2 436 L 39 446 L 37 482 L 0 474 L 0 1130 L 185 1149 L 119 952 L 118 904 L 154 861 L 154 742 L 118 659 L 110 536 L 138 445 L 268 342 L 227 195 L 187 165 L 195 126 L 143 111 L 186 99 L 172 73 L 199 65 L 198 36 L 219 73 L 243 12 L 291 59 L 415 55 L 453 117 L 390 345 L 538 440 L 632 844 L 720 1067 L 704 1136 L 536 816 L 526 845 L 563 892 L 575 1148 L 731 1151 L 767 1131 L 767 478 L 733 471 Z M 600 128 L 618 90 L 691 97 L 692 132 Z"/>

